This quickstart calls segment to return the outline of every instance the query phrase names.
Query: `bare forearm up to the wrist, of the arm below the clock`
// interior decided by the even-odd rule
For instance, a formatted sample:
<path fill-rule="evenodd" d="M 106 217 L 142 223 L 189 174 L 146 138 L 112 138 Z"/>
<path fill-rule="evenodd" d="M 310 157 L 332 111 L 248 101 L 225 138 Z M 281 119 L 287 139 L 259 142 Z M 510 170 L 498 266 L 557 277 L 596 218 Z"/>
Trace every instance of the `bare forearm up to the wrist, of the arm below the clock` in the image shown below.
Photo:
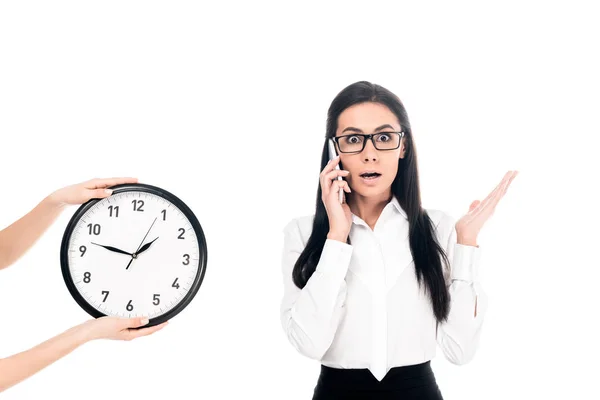
<path fill-rule="evenodd" d="M 0 359 L 0 392 L 36 374 L 89 340 L 88 328 L 82 324 L 29 350 Z"/>

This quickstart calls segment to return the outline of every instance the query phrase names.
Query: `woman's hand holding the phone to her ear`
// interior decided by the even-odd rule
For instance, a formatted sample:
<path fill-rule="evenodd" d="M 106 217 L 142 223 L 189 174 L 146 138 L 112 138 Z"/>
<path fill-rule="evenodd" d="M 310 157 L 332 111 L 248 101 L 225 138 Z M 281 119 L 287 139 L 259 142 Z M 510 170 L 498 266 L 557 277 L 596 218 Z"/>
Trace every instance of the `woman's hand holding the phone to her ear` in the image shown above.
<path fill-rule="evenodd" d="M 338 176 L 345 177 L 349 174 L 348 171 L 335 168 L 339 162 L 339 156 L 330 160 L 323 168 L 319 180 L 321 182 L 321 200 L 329 217 L 327 238 L 345 243 L 352 226 L 352 214 L 347 203 L 340 204 L 338 194 L 340 189 L 346 193 L 350 193 L 351 190 L 348 182 L 337 179 Z"/>

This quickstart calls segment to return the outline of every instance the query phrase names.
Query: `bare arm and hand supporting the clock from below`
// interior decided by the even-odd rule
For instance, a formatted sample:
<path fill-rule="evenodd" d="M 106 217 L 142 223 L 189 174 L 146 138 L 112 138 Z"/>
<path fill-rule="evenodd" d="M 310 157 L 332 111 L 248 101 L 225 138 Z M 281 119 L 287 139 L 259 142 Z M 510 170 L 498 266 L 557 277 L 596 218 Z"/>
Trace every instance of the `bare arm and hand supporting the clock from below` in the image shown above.
<path fill-rule="evenodd" d="M 150 335 L 167 322 L 145 329 L 129 329 L 148 323 L 147 319 L 103 317 L 77 325 L 29 350 L 0 359 L 0 392 L 38 373 L 84 343 L 96 339 L 132 340 Z"/>

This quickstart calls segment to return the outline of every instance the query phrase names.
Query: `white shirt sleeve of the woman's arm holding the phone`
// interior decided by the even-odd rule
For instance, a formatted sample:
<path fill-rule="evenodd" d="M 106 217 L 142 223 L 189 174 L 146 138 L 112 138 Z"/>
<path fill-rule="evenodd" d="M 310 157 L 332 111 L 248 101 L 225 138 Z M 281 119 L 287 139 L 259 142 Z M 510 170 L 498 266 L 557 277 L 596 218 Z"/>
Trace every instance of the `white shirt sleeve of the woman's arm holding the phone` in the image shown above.
<path fill-rule="evenodd" d="M 292 280 L 294 264 L 305 247 L 298 222 L 290 222 L 284 233 L 281 323 L 296 350 L 320 360 L 331 346 L 343 313 L 352 246 L 327 239 L 315 272 L 300 290 Z"/>

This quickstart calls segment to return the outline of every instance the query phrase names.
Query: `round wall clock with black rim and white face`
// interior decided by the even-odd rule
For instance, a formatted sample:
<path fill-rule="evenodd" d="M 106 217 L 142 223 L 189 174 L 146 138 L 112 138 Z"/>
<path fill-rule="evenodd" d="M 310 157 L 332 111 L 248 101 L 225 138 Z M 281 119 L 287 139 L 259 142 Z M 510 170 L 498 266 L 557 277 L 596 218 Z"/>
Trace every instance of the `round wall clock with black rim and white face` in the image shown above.
<path fill-rule="evenodd" d="M 145 327 L 179 314 L 206 272 L 206 240 L 183 201 L 147 184 L 112 187 L 82 204 L 63 235 L 60 261 L 75 301 L 91 316 L 144 316 Z"/>

